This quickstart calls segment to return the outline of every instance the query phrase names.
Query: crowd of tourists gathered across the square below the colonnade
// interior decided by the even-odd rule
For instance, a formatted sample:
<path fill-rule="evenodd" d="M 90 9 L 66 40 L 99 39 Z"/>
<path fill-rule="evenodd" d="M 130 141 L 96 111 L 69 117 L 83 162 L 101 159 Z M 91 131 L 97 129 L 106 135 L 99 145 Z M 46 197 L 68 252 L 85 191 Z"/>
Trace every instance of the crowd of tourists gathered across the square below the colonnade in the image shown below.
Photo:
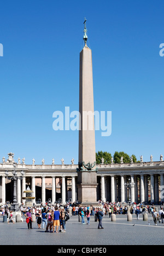
<path fill-rule="evenodd" d="M 22 216 L 26 217 L 28 229 L 32 229 L 32 215 L 36 218 L 38 229 L 45 229 L 45 232 L 66 232 L 66 222 L 70 216 L 80 216 L 81 224 L 90 225 L 91 216 L 95 216 L 95 220 L 99 223 L 98 229 L 102 227 L 102 217 L 109 216 L 112 214 L 136 214 L 137 220 L 141 214 L 147 213 L 153 217 L 155 225 L 157 220 L 159 223 L 163 223 L 164 212 L 163 206 L 161 205 L 160 211 L 157 212 L 154 205 L 144 205 L 144 203 L 132 203 L 131 206 L 122 204 L 120 202 L 100 202 L 99 206 L 79 206 L 77 203 L 68 202 L 66 205 L 61 203 L 52 204 L 41 204 L 40 206 L 26 207 L 22 205 L 20 207 Z M 13 222 L 13 212 L 8 207 L 8 202 L 2 205 L 0 208 L 0 216 L 4 214 L 8 215 L 8 223 Z M 85 222 L 86 219 L 86 222 Z M 59 229 L 60 228 L 60 229 Z"/>

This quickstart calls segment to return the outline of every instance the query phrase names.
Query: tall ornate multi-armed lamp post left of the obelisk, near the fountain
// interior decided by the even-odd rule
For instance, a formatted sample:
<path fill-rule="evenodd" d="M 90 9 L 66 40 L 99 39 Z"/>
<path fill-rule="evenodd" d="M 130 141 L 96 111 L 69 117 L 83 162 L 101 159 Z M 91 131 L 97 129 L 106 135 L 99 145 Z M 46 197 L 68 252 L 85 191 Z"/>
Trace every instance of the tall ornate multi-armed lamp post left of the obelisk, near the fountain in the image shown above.
<path fill-rule="evenodd" d="M 11 181 L 14 181 L 14 193 L 13 193 L 13 203 L 11 204 L 11 211 L 16 212 L 19 210 L 19 203 L 17 203 L 16 200 L 16 181 L 17 179 L 22 179 L 24 177 L 24 171 L 21 171 L 21 176 L 17 176 L 16 172 L 16 162 L 13 164 L 14 170 L 13 170 L 13 176 L 9 177 L 9 171 L 5 170 L 5 177 L 7 179 L 11 179 Z"/>

